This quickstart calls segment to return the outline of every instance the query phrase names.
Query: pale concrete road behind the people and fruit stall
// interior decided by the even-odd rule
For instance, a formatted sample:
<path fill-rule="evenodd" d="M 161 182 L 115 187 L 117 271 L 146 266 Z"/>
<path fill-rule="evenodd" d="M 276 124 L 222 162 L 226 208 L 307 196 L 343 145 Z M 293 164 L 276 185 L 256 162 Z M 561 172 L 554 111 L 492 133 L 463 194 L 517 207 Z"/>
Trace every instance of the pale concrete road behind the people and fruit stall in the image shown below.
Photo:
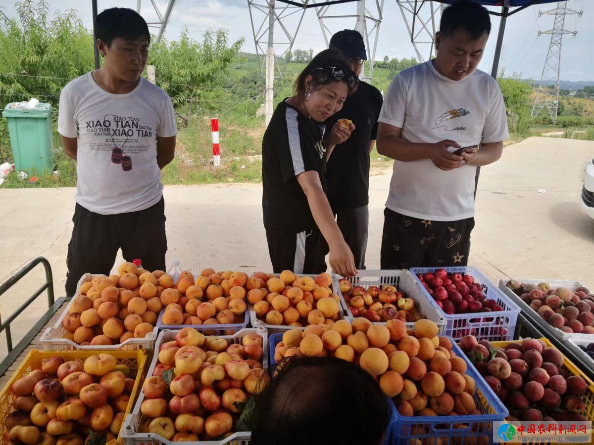
<path fill-rule="evenodd" d="M 505 148 L 501 160 L 481 174 L 470 265 L 493 281 L 557 278 L 594 286 L 594 220 L 578 204 L 580 167 L 593 157 L 591 141 L 529 138 Z M 390 174 L 386 170 L 370 180 L 369 269 L 380 266 Z M 207 266 L 269 271 L 261 192 L 259 185 L 243 184 L 166 187 L 168 264 L 175 258 L 192 271 Z M 52 264 L 56 297 L 63 295 L 73 211 L 74 189 L 0 190 L 0 282 L 42 255 Z M 117 263 L 121 260 L 119 256 Z M 2 319 L 41 282 L 40 268 L 2 295 Z M 15 338 L 44 307 L 39 300 L 18 319 Z M 4 346 L 0 339 L 0 348 Z"/>

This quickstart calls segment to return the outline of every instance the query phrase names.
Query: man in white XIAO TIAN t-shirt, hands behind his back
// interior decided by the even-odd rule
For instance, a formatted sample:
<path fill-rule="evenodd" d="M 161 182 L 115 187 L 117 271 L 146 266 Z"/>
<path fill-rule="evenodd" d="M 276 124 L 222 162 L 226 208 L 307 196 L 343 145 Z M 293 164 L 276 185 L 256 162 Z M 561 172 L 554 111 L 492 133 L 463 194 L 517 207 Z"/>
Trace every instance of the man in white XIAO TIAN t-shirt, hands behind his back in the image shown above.
<path fill-rule="evenodd" d="M 175 152 L 175 112 L 167 93 L 141 77 L 149 27 L 132 9 L 97 15 L 103 66 L 68 83 L 58 132 L 77 161 L 74 229 L 66 293 L 85 272 L 109 274 L 118 249 L 143 268 L 165 269 L 165 202 L 161 172 Z"/>

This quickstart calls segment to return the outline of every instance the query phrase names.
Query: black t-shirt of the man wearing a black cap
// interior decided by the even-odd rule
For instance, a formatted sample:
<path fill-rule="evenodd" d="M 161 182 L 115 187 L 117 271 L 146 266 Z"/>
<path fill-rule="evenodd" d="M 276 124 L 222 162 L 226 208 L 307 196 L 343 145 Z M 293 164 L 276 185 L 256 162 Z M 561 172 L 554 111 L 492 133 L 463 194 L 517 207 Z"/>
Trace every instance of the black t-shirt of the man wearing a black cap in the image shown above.
<path fill-rule="evenodd" d="M 383 101 L 377 88 L 361 81 L 342 109 L 324 122 L 326 135 L 339 119 L 350 119 L 355 124 L 349 139 L 334 147 L 328 159 L 328 201 L 335 210 L 369 204 L 369 143 L 377 136 Z"/>

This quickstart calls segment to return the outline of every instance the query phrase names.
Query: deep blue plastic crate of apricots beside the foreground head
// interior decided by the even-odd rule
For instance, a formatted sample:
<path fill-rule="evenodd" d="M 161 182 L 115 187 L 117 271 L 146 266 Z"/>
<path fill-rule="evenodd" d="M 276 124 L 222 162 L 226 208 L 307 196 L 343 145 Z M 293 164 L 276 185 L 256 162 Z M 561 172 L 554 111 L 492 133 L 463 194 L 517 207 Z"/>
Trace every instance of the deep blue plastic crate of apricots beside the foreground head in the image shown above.
<path fill-rule="evenodd" d="M 442 336 L 442 335 L 440 335 Z M 447 336 L 445 336 L 447 337 Z M 273 334 L 268 337 L 268 369 L 273 373 L 276 368 L 274 361 L 274 348 L 282 341 L 282 334 Z M 452 338 L 452 350 L 457 357 L 466 361 L 466 374 L 476 382 L 474 395 L 476 408 L 482 411 L 481 415 L 468 416 L 439 416 L 406 417 L 400 415 L 394 403 L 391 403 L 391 420 L 386 431 L 385 444 L 406 444 L 413 443 L 411 439 L 418 438 L 422 443 L 427 444 L 469 444 L 476 443 L 479 437 L 487 437 L 488 443 L 492 443 L 492 427 L 494 421 L 503 421 L 509 414 L 507 408 L 497 398 L 491 387 L 478 373 L 474 365 L 468 360 L 466 354 L 460 349 Z M 466 425 L 465 428 L 458 428 L 458 425 Z M 439 441 L 438 441 L 439 438 Z"/>

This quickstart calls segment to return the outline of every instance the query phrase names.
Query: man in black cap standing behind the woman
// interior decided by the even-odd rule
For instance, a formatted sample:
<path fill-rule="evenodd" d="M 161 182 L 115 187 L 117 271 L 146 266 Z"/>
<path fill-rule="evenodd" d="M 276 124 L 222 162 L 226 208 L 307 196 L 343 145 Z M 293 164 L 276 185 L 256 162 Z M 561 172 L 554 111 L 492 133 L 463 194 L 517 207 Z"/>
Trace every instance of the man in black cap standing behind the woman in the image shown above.
<path fill-rule="evenodd" d="M 330 39 L 330 48 L 337 49 L 350 68 L 361 75 L 367 60 L 363 37 L 355 30 L 339 31 Z M 380 91 L 366 82 L 347 98 L 335 115 L 326 120 L 333 128 L 339 119 L 350 119 L 355 131 L 334 150 L 326 166 L 328 201 L 338 226 L 355 256 L 355 266 L 365 269 L 365 250 L 369 225 L 369 152 L 373 150 L 383 98 Z"/>

